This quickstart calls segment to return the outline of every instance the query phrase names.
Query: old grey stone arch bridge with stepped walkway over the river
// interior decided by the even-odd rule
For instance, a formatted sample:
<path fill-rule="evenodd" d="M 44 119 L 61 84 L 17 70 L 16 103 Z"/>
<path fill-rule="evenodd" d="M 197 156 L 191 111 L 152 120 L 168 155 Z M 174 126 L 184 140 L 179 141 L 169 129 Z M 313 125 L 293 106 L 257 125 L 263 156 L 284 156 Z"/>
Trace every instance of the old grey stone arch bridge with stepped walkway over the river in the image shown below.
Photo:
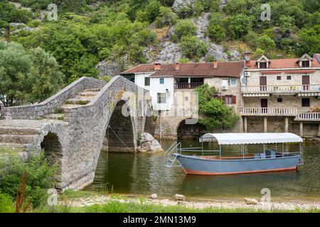
<path fill-rule="evenodd" d="M 120 76 L 82 77 L 40 104 L 2 109 L 0 146 L 26 157 L 45 150 L 58 165 L 56 187 L 81 189 L 93 181 L 101 150 L 135 152 L 144 131 L 154 131 L 146 90 Z"/>

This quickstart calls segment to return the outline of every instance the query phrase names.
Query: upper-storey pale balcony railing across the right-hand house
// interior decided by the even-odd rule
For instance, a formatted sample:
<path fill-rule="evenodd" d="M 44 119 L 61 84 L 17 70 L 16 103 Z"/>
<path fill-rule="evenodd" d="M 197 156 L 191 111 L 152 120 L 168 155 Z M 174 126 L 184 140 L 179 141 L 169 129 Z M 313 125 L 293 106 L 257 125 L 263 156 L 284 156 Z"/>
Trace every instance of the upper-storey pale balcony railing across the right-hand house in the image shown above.
<path fill-rule="evenodd" d="M 299 93 L 299 92 L 320 92 L 320 85 L 262 85 L 242 87 L 243 93 Z"/>

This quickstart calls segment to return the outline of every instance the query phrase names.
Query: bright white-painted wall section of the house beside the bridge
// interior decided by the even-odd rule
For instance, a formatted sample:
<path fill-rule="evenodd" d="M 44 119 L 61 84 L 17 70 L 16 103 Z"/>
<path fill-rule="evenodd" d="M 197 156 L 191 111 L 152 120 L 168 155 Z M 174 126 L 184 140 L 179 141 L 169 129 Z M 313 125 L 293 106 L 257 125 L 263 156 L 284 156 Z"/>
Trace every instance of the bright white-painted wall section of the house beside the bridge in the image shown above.
<path fill-rule="evenodd" d="M 154 110 L 166 111 L 171 109 L 171 105 L 174 100 L 174 78 L 173 77 L 161 77 L 164 78 L 164 84 L 160 84 L 160 77 L 150 77 L 150 86 L 144 86 L 144 78 L 149 77 L 149 74 L 135 74 L 134 83 L 139 87 L 143 87 L 149 90 L 152 106 Z M 167 94 L 168 89 L 169 94 Z M 166 93 L 166 104 L 157 103 L 157 93 Z"/>

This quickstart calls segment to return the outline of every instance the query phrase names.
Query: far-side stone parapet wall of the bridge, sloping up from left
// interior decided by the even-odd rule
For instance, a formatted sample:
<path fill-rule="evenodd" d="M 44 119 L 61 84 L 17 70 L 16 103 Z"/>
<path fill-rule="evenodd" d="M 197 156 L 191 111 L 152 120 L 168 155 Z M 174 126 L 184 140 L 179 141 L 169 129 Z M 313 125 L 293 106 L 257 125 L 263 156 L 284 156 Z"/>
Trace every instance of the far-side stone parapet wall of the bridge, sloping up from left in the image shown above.
<path fill-rule="evenodd" d="M 6 119 L 34 119 L 53 113 L 66 99 L 72 98 L 80 91 L 91 88 L 102 88 L 105 82 L 91 77 L 82 77 L 51 96 L 40 104 L 28 106 L 13 106 L 1 109 L 1 115 Z"/>

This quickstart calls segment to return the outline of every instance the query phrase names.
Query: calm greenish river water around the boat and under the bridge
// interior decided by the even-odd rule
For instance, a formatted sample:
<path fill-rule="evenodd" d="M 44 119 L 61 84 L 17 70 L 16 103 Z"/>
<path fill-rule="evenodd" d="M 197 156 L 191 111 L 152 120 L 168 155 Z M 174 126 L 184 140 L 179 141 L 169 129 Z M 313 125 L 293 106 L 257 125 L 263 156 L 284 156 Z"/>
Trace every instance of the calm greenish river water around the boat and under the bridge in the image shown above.
<path fill-rule="evenodd" d="M 173 141 L 162 141 L 166 150 Z M 182 140 L 183 147 L 201 146 L 197 140 Z M 216 143 L 206 148 L 216 149 Z M 271 147 L 270 147 L 271 148 Z M 86 190 L 161 197 L 184 194 L 194 198 L 240 199 L 259 197 L 269 188 L 273 199 L 316 199 L 320 201 L 320 144 L 303 143 L 304 165 L 298 170 L 227 176 L 185 175 L 181 167 L 164 167 L 164 153 L 117 154 L 101 153 L 95 180 Z M 286 151 L 296 151 L 299 145 L 286 145 Z M 262 146 L 250 145 L 247 150 L 260 153 Z M 225 147 L 223 153 L 238 153 L 238 146 Z"/>

